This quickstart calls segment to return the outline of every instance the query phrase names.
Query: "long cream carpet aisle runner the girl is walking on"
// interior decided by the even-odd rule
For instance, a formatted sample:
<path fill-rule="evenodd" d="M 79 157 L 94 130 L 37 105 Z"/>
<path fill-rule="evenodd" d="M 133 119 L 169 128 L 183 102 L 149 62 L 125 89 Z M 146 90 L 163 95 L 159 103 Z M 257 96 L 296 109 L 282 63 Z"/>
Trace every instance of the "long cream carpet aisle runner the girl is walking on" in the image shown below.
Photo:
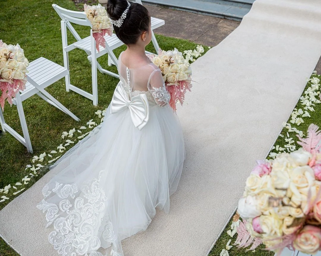
<path fill-rule="evenodd" d="M 126 256 L 207 254 L 320 54 L 319 0 L 256 0 L 240 26 L 193 64 L 199 84 L 178 107 L 187 150 L 178 191 L 169 215 L 158 212 L 145 232 L 123 242 Z M 53 175 L 0 211 L 1 237 L 23 256 L 57 255 L 36 209 Z"/>

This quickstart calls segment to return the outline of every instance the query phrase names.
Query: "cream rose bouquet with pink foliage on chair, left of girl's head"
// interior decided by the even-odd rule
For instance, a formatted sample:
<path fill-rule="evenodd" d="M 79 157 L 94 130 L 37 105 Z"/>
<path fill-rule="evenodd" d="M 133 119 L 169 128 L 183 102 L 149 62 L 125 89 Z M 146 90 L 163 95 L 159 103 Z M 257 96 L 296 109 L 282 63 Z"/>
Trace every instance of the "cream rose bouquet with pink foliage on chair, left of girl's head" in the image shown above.
<path fill-rule="evenodd" d="M 99 45 L 106 47 L 104 36 L 112 36 L 113 25 L 107 15 L 106 9 L 101 4 L 98 5 L 83 5 L 87 19 L 91 22 L 92 36 L 96 41 L 96 49 L 99 52 Z"/>

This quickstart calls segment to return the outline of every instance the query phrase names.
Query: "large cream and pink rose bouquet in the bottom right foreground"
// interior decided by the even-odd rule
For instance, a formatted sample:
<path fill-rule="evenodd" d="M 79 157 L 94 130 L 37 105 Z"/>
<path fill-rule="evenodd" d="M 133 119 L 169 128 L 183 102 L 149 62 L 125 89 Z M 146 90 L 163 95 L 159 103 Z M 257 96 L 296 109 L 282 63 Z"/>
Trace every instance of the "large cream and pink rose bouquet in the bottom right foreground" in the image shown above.
<path fill-rule="evenodd" d="M 234 220 L 236 244 L 265 244 L 278 254 L 285 247 L 315 254 L 321 250 L 321 132 L 311 124 L 297 151 L 258 161 L 247 178 Z"/>

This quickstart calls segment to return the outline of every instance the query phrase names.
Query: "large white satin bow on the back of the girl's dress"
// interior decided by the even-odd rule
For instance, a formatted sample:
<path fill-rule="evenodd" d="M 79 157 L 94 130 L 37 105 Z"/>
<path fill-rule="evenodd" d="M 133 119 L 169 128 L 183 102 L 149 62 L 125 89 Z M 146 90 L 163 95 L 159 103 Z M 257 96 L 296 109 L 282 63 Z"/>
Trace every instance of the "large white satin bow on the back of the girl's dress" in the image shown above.
<path fill-rule="evenodd" d="M 126 108 L 129 108 L 134 126 L 141 130 L 147 124 L 149 118 L 147 96 L 143 93 L 132 97 L 132 100 L 130 100 L 123 88 L 122 81 L 119 81 L 111 100 L 110 114 L 123 111 Z"/>

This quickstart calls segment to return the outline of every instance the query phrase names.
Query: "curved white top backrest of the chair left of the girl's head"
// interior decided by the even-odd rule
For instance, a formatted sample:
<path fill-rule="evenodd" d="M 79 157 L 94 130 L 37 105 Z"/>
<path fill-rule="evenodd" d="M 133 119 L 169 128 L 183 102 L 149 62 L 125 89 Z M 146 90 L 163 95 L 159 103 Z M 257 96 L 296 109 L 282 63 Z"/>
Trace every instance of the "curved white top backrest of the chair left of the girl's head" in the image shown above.
<path fill-rule="evenodd" d="M 66 22 L 72 22 L 82 26 L 91 27 L 90 21 L 87 19 L 85 12 L 76 12 L 71 11 L 65 8 L 60 7 L 57 4 L 52 4 L 52 7 L 55 9 L 61 20 Z"/>

